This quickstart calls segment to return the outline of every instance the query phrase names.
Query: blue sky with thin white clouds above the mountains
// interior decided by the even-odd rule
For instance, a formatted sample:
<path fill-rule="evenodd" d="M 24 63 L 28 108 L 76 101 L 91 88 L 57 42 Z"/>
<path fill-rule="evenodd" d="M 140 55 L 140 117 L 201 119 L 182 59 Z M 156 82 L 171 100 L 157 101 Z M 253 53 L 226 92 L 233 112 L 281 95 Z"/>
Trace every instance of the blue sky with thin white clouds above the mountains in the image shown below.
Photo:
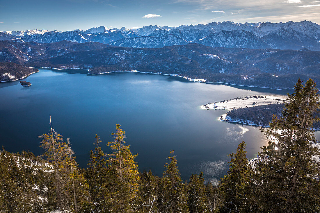
<path fill-rule="evenodd" d="M 319 0 L 0 0 L 0 30 L 140 28 L 213 21 L 320 24 Z"/>

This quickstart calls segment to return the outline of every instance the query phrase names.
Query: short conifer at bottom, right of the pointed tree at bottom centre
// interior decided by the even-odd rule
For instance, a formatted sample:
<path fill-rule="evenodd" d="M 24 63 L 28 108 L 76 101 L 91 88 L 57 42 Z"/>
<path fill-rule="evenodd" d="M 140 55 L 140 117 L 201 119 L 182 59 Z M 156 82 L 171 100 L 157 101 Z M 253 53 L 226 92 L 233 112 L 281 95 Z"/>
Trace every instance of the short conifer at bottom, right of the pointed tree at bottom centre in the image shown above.
<path fill-rule="evenodd" d="M 187 202 L 190 213 L 208 212 L 203 173 L 191 175 L 187 187 Z"/>

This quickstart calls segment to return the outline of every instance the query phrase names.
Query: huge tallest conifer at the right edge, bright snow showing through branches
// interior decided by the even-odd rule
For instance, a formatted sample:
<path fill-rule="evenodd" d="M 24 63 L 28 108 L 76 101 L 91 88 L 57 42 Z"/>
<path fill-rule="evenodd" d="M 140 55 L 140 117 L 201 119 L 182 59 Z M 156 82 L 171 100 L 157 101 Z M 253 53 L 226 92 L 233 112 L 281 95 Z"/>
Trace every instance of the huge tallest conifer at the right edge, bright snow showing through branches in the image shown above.
<path fill-rule="evenodd" d="M 313 134 L 319 95 L 309 79 L 296 83 L 288 94 L 283 116 L 274 116 L 270 128 L 261 129 L 268 146 L 262 147 L 256 163 L 256 197 L 265 212 L 319 212 L 320 152 Z"/>

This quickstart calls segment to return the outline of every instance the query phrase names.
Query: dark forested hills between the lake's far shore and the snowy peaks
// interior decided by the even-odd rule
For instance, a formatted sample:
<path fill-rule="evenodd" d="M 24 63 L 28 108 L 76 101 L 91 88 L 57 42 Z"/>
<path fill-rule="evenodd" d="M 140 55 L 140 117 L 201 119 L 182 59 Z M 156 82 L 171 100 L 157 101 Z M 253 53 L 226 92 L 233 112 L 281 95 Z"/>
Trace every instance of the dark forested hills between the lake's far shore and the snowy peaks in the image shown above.
<path fill-rule="evenodd" d="M 163 48 L 115 47 L 97 42 L 0 41 L 0 62 L 26 67 L 84 68 L 90 74 L 138 70 L 270 88 L 292 88 L 298 78 L 320 85 L 320 51 L 212 48 L 201 44 Z"/>

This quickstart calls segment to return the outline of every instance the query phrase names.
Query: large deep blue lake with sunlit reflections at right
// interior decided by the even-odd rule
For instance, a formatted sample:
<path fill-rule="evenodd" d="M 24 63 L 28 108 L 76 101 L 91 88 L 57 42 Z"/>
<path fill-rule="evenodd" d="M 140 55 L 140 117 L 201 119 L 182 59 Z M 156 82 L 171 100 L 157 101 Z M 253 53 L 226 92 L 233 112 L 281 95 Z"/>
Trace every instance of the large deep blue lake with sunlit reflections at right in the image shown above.
<path fill-rule="evenodd" d="M 85 70 L 39 68 L 25 80 L 0 83 L 0 146 L 7 151 L 42 154 L 40 136 L 54 129 L 71 138 L 80 166 L 94 149 L 95 134 L 103 148 L 120 123 L 140 170 L 161 176 L 174 149 L 183 179 L 204 172 L 219 179 L 227 169 L 227 155 L 244 140 L 249 158 L 266 144 L 257 127 L 218 121 L 223 110 L 201 110 L 207 102 L 239 96 L 286 94 L 288 91 L 231 87 L 189 82 L 182 78 L 139 73 L 86 75 Z M 255 90 L 255 91 L 252 91 Z"/>

